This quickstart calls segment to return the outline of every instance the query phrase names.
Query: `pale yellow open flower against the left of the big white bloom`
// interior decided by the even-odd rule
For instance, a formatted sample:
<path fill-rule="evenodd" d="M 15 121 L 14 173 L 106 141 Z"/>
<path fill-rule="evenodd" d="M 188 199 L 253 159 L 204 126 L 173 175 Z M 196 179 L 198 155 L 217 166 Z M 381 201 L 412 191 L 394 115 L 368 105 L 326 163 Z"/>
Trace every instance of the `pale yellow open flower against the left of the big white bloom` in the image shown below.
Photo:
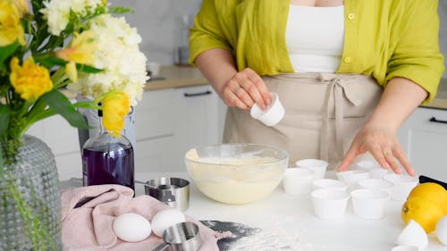
<path fill-rule="evenodd" d="M 94 36 L 92 30 L 76 34 L 70 46 L 55 52 L 57 57 L 69 62 L 65 66 L 65 72 L 72 82 L 78 81 L 76 63 L 93 64 L 95 62 L 94 53 L 97 49 L 97 42 Z"/>

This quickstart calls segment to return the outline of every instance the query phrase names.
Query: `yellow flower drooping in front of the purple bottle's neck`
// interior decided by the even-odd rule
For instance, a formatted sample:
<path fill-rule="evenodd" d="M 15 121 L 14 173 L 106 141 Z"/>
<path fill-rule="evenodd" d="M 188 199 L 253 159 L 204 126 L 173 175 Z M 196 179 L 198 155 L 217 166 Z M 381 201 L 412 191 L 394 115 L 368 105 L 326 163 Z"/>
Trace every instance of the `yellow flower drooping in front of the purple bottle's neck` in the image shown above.
<path fill-rule="evenodd" d="M 124 117 L 129 113 L 131 102 L 124 92 L 112 93 L 101 101 L 103 106 L 103 124 L 114 137 L 120 137 L 124 128 Z"/>

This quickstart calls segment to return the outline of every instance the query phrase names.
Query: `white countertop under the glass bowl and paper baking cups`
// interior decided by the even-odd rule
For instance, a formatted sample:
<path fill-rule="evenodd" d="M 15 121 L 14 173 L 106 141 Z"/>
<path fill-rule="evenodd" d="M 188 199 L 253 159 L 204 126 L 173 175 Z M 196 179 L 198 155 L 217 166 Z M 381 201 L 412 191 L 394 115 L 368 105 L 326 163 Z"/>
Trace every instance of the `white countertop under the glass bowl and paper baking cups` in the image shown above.
<path fill-rule="evenodd" d="M 330 177 L 330 174 L 328 176 Z M 186 172 L 139 174 L 137 180 L 160 177 L 190 180 Z M 144 194 L 142 185 L 136 184 L 136 193 Z M 262 239 L 266 242 L 289 241 L 294 245 L 301 244 L 298 249 L 281 250 L 390 251 L 395 246 L 395 239 L 404 228 L 401 221 L 402 204 L 401 201 L 389 201 L 383 219 L 363 220 L 352 213 L 349 202 L 342 221 L 324 221 L 316 218 L 309 196 L 290 196 L 283 191 L 281 184 L 270 196 L 255 203 L 225 205 L 204 196 L 191 182 L 190 208 L 185 213 L 200 221 L 239 222 L 249 227 L 260 228 L 264 231 Z M 257 241 L 256 236 L 250 238 Z M 428 239 L 429 244 L 425 250 L 447 250 L 433 233 Z"/>

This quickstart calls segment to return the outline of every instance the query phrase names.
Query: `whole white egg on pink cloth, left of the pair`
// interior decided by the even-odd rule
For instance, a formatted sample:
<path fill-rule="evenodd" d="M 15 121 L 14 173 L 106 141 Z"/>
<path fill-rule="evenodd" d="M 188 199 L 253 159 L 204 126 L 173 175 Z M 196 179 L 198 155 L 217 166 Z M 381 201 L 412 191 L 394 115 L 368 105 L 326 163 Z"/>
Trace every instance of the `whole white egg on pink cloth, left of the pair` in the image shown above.
<path fill-rule="evenodd" d="M 150 222 L 138 213 L 122 213 L 114 219 L 114 233 L 128 242 L 138 242 L 148 238 Z"/>

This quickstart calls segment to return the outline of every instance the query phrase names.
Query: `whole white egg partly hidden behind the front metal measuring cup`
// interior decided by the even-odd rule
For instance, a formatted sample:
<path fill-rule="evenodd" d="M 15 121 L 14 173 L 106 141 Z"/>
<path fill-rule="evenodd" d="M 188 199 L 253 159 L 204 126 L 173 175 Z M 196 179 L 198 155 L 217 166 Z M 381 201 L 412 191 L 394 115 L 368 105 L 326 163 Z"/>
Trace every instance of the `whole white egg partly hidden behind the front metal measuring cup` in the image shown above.
<path fill-rule="evenodd" d="M 163 231 L 177 223 L 185 222 L 185 215 L 181 211 L 170 208 L 158 211 L 152 217 L 152 230 L 158 237 L 163 237 Z"/>

